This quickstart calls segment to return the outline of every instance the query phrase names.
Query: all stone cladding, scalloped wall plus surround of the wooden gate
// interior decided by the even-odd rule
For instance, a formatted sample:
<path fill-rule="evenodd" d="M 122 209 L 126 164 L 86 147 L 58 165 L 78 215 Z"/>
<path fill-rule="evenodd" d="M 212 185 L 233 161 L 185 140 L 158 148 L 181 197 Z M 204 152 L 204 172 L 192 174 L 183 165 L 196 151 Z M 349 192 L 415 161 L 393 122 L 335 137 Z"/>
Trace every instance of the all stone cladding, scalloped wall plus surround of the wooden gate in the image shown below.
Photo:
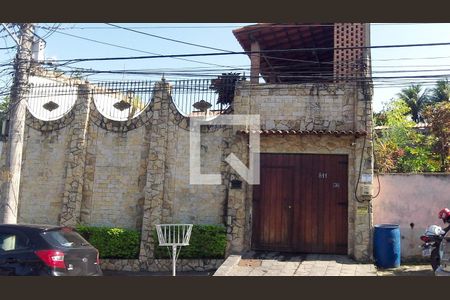
<path fill-rule="evenodd" d="M 239 176 L 225 162 L 234 153 L 248 163 L 248 136 L 236 134 L 245 126 L 202 128 L 201 172 L 221 174 L 222 182 L 191 185 L 190 122 L 172 102 L 168 83 L 156 83 L 150 105 L 136 120 L 123 122 L 102 116 L 89 89 L 80 85 L 76 104 L 60 122 L 47 124 L 28 115 L 20 222 L 137 229 L 141 247 L 139 259 L 130 260 L 133 270 L 167 268 L 153 256 L 157 241 L 151 232 L 161 223 L 224 224 L 227 254 L 251 248 L 252 186 L 243 181 L 241 189 L 230 189 L 231 176 Z M 352 85 L 243 83 L 230 113 L 259 114 L 263 129 L 371 131 L 370 101 Z M 371 253 L 371 205 L 354 197 L 361 154 L 362 172 L 372 174 L 371 147 L 370 134 L 365 141 L 354 136 L 261 137 L 261 152 L 348 155 L 348 254 L 357 260 L 368 260 Z M 215 262 L 198 264 L 209 268 Z"/>

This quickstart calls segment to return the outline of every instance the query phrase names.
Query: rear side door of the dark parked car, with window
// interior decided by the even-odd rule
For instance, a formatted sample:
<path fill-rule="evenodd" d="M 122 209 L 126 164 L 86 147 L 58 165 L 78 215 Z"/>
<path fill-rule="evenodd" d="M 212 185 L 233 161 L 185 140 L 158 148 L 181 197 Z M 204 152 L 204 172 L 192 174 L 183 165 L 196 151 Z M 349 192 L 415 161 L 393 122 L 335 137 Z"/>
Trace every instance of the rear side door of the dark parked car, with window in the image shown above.
<path fill-rule="evenodd" d="M 35 273 L 34 253 L 26 234 L 14 229 L 0 229 L 0 275 Z"/>

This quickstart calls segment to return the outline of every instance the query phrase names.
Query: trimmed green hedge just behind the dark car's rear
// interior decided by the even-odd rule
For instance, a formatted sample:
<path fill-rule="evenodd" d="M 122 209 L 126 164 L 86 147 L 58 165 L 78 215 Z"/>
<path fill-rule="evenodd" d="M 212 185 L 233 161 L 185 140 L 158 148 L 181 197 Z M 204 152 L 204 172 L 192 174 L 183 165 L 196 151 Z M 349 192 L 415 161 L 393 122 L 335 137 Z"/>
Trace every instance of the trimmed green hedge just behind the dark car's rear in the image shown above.
<path fill-rule="evenodd" d="M 93 226 L 77 226 L 76 230 L 97 248 L 100 258 L 139 257 L 140 234 L 136 230 Z"/>

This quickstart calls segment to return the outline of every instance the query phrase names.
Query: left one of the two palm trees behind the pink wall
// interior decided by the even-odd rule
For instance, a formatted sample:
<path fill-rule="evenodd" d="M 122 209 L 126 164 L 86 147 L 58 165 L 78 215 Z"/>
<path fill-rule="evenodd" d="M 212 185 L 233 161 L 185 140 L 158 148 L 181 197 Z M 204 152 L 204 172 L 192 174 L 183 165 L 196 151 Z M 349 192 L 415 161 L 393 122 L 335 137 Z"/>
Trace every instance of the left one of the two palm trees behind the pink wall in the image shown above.
<path fill-rule="evenodd" d="M 402 89 L 397 96 L 405 101 L 411 109 L 411 115 L 414 122 L 423 122 L 422 112 L 429 103 L 429 91 L 422 91 L 420 84 L 411 84 L 411 86 Z"/>

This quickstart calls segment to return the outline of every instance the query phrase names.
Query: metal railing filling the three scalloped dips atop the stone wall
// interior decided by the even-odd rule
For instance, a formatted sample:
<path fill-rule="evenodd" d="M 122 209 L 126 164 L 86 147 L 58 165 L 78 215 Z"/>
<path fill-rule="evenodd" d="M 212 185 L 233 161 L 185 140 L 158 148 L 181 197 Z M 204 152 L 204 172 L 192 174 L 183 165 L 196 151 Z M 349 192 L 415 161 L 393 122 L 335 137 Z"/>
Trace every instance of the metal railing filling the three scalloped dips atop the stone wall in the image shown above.
<path fill-rule="evenodd" d="M 36 118 L 57 120 L 69 112 L 80 96 L 79 83 L 62 83 L 48 79 L 29 85 L 27 107 Z M 43 83 L 44 82 L 44 83 Z M 50 82 L 50 83 L 49 83 Z M 234 97 L 234 82 L 217 79 L 167 81 L 170 96 L 186 116 L 221 114 Z M 106 118 L 126 121 L 137 117 L 150 104 L 155 89 L 151 81 L 110 81 L 90 84 L 90 96 Z"/>

